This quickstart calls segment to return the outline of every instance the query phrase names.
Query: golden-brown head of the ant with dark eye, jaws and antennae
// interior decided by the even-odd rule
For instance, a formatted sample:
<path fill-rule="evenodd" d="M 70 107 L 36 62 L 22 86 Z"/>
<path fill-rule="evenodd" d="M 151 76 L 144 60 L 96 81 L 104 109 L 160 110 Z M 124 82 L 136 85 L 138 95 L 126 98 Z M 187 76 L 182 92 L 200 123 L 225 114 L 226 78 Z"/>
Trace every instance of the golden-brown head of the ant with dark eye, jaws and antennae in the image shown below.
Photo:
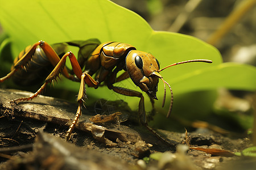
<path fill-rule="evenodd" d="M 171 86 L 163 79 L 162 75 L 159 74 L 160 71 L 167 69 L 168 67 L 180 65 L 182 63 L 188 62 L 207 62 L 212 63 L 209 59 L 192 59 L 188 61 L 182 61 L 168 65 L 163 69 L 160 69 L 159 62 L 157 59 L 149 53 L 141 52 L 138 50 L 131 50 L 126 57 L 126 69 L 130 75 L 131 80 L 133 80 L 136 86 L 139 86 L 142 91 L 146 92 L 153 99 L 157 99 L 156 91 L 158 91 L 159 79 L 162 79 L 164 84 L 164 96 L 162 107 L 166 100 L 166 84 L 171 91 L 171 103 L 167 117 L 170 116 L 172 110 L 172 103 L 174 100 Z"/>

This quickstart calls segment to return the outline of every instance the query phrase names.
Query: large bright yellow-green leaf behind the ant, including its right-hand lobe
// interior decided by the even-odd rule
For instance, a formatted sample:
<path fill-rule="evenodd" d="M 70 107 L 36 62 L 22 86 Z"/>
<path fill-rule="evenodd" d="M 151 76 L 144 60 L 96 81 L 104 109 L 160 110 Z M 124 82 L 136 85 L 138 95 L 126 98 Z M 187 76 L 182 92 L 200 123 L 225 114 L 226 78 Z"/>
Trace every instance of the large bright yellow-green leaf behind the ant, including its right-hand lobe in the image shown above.
<path fill-rule="evenodd" d="M 213 61 L 212 64 L 188 63 L 161 72 L 164 79 L 171 84 L 175 95 L 221 86 L 251 91 L 256 87 L 255 67 L 223 64 L 220 53 L 213 46 L 191 36 L 153 31 L 139 15 L 110 1 L 0 0 L 0 4 L 0 22 L 10 35 L 15 55 L 26 45 L 38 40 L 47 41 L 49 44 L 89 38 L 98 38 L 102 42 L 121 41 L 136 46 L 138 50 L 152 53 L 158 58 L 161 67 L 197 58 Z M 131 80 L 117 83 L 117 86 L 140 91 Z M 79 90 L 78 83 L 67 80 L 59 83 L 59 87 Z M 138 99 L 116 95 L 106 88 L 91 88 L 87 92 L 89 96 L 98 98 L 114 100 L 120 97 L 134 108 L 138 105 Z M 163 86 L 159 84 L 158 98 L 162 97 Z M 169 94 L 167 97 L 170 100 Z"/>

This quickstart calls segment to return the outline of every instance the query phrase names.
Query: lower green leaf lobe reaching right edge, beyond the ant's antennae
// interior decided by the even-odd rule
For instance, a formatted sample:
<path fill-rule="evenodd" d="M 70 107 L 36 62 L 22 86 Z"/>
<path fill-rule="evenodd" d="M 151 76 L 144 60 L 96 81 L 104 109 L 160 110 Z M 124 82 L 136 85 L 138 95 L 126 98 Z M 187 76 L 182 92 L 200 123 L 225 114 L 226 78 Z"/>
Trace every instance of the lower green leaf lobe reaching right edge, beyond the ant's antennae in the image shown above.
<path fill-rule="evenodd" d="M 197 82 L 198 86 L 189 86 Z M 174 88 L 179 90 L 198 91 L 216 87 L 228 87 L 232 90 L 254 91 L 256 87 L 256 69 L 254 66 L 240 63 L 222 63 L 220 65 L 194 71 L 174 79 Z M 177 92 L 181 92 L 177 90 Z"/>

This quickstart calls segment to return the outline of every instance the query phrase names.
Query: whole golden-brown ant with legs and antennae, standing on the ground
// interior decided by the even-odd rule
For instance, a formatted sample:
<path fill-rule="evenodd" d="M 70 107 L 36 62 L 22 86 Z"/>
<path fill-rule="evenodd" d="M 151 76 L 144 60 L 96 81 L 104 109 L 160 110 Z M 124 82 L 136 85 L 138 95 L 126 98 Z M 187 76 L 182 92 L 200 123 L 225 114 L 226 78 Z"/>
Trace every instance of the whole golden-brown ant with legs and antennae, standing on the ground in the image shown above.
<path fill-rule="evenodd" d="M 72 52 L 65 52 L 68 45 L 79 47 L 77 59 Z M 67 57 L 71 61 L 72 70 L 68 70 L 65 67 Z M 187 62 L 212 63 L 208 59 L 193 59 L 177 62 L 167 67 Z M 156 91 L 158 91 L 158 82 L 161 79 L 164 83 L 163 105 L 166 98 L 165 84 L 168 85 L 171 91 L 171 103 L 167 113 L 168 117 L 171 113 L 173 95 L 170 85 L 159 74 L 160 71 L 167 67 L 164 69 L 160 69 L 159 67 L 159 62 L 152 54 L 141 52 L 134 46 L 121 42 L 105 42 L 100 44 L 100 41 L 97 39 L 90 39 L 86 41 L 53 44 L 50 46 L 47 42 L 38 41 L 32 46 L 28 46 L 23 52 L 20 52 L 14 61 L 11 72 L 1 78 L 0 83 L 11 76 L 14 76 L 15 82 L 22 85 L 38 83 L 45 79 L 43 86 L 34 95 L 12 101 L 18 103 L 19 101 L 31 100 L 41 94 L 44 88 L 46 88 L 46 85 L 56 80 L 60 73 L 68 79 L 80 82 L 80 90 L 77 97 L 79 107 L 72 125 L 67 131 L 65 139 L 68 140 L 72 130 L 75 128 L 76 122 L 81 116 L 82 103 L 86 97 L 85 84 L 89 87 L 97 88 L 102 82 L 105 82 L 110 90 L 118 94 L 140 97 L 138 112 L 141 123 L 159 139 L 167 142 L 166 139 L 162 138 L 155 130 L 148 126 L 142 93 L 113 85 L 130 77 L 136 86 L 146 92 L 154 107 L 154 99 L 157 99 Z M 121 70 L 125 70 L 125 72 L 117 78 L 117 73 Z M 94 78 L 92 78 L 93 75 L 95 75 Z"/>

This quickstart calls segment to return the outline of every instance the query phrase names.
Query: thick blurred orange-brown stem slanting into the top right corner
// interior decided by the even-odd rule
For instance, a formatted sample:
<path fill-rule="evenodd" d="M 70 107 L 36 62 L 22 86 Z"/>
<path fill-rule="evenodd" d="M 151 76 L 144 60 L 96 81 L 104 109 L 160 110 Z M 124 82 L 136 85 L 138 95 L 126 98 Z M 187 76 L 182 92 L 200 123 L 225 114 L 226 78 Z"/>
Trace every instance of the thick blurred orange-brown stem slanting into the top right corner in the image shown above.
<path fill-rule="evenodd" d="M 228 18 L 220 25 L 218 28 L 207 40 L 209 44 L 216 45 L 222 37 L 229 32 L 234 24 L 238 23 L 238 20 L 242 18 L 256 3 L 256 0 L 245 0 L 241 1 L 236 9 L 229 14 Z"/>

